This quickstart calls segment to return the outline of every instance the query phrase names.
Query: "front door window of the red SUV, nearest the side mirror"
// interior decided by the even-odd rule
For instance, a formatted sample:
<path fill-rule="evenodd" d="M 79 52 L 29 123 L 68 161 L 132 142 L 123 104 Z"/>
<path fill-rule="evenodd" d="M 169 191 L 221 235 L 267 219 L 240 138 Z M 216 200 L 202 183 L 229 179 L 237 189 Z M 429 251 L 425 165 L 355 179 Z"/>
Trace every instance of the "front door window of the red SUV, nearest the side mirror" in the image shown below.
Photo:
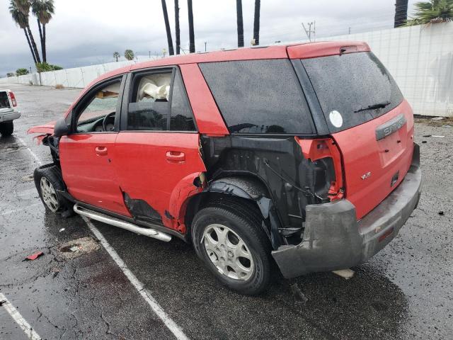
<path fill-rule="evenodd" d="M 101 87 L 90 95 L 90 98 L 85 101 L 85 105 L 77 114 L 77 132 L 103 132 L 103 118 L 110 113 L 111 115 L 106 128 L 108 131 L 113 131 L 120 85 L 121 79 L 118 79 Z"/>

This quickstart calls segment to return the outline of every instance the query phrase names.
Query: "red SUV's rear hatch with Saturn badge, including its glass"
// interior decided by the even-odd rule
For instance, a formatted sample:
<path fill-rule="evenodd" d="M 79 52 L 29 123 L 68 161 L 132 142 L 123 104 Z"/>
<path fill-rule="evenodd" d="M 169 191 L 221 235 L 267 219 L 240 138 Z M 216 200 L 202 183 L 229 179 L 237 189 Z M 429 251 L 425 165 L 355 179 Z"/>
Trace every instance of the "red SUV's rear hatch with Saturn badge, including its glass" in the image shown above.
<path fill-rule="evenodd" d="M 406 176 L 413 153 L 412 109 L 372 52 L 310 57 L 302 64 L 342 154 L 345 198 L 360 219 Z"/>

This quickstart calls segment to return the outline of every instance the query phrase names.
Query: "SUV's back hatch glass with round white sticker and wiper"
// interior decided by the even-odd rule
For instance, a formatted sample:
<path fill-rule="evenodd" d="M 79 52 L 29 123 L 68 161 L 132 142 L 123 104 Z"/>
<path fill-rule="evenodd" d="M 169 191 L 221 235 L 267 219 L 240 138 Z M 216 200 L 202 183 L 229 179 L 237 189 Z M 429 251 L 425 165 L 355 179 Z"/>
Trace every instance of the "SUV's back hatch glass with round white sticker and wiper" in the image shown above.
<path fill-rule="evenodd" d="M 372 52 L 306 59 L 302 64 L 331 132 L 366 123 L 403 101 L 398 85 Z"/>

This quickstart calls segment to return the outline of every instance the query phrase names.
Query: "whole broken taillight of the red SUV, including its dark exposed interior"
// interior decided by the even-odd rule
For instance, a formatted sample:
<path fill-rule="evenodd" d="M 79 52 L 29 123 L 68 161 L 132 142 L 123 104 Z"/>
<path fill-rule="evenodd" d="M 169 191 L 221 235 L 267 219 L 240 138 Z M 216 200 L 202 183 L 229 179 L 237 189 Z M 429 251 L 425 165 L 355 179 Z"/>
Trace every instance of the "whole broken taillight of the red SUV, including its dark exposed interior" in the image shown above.
<path fill-rule="evenodd" d="M 324 192 L 327 191 L 330 200 L 343 198 L 344 186 L 341 154 L 336 142 L 331 138 L 320 138 L 316 140 L 295 138 L 296 142 L 302 148 L 302 154 L 304 154 L 305 159 L 308 159 L 313 164 L 314 177 L 316 179 L 315 186 L 322 185 L 320 182 L 324 181 L 327 188 Z M 329 176 L 330 172 L 335 174 L 335 176 L 333 174 Z"/>

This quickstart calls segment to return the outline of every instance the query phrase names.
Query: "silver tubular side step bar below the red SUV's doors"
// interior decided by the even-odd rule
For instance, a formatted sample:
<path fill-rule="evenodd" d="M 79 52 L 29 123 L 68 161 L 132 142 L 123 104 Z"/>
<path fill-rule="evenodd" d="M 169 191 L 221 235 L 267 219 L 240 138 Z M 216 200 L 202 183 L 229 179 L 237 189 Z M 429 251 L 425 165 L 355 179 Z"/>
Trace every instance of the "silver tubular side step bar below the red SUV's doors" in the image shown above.
<path fill-rule="evenodd" d="M 81 207 L 79 203 L 74 204 L 74 212 L 76 212 L 79 215 L 89 217 L 92 220 L 103 222 L 108 225 L 113 225 L 115 227 L 120 227 L 122 229 L 129 230 L 130 232 L 134 232 L 136 234 L 141 234 L 147 237 L 153 237 L 154 239 L 160 239 L 161 241 L 164 242 L 169 242 L 171 240 L 170 234 L 166 234 L 165 232 L 159 232 L 155 229 L 139 227 L 138 225 L 133 225 L 132 223 L 122 221 L 118 218 L 104 215 L 101 212 L 86 209 L 84 207 Z"/>

